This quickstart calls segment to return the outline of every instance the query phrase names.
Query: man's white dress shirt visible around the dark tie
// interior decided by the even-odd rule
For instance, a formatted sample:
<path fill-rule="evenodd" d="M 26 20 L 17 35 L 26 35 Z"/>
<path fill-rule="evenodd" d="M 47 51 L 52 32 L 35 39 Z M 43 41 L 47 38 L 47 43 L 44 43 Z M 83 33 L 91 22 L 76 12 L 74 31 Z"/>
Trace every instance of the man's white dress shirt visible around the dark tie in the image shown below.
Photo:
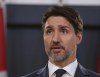
<path fill-rule="evenodd" d="M 57 69 L 64 69 L 66 71 L 66 73 L 63 74 L 62 77 L 74 77 L 77 66 L 78 66 L 77 60 L 65 66 L 64 68 L 59 68 L 58 66 L 48 61 L 49 77 L 56 77 L 56 74 L 54 72 Z"/>

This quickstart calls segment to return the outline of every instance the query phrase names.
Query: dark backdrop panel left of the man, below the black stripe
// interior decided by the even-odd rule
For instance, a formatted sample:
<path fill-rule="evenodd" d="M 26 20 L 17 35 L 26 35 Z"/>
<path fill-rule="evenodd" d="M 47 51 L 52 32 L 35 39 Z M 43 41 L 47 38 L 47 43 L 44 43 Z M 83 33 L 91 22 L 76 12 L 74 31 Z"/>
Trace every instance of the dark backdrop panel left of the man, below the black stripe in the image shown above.
<path fill-rule="evenodd" d="M 10 77 L 20 77 L 46 64 L 40 29 L 8 29 L 8 40 Z"/>

